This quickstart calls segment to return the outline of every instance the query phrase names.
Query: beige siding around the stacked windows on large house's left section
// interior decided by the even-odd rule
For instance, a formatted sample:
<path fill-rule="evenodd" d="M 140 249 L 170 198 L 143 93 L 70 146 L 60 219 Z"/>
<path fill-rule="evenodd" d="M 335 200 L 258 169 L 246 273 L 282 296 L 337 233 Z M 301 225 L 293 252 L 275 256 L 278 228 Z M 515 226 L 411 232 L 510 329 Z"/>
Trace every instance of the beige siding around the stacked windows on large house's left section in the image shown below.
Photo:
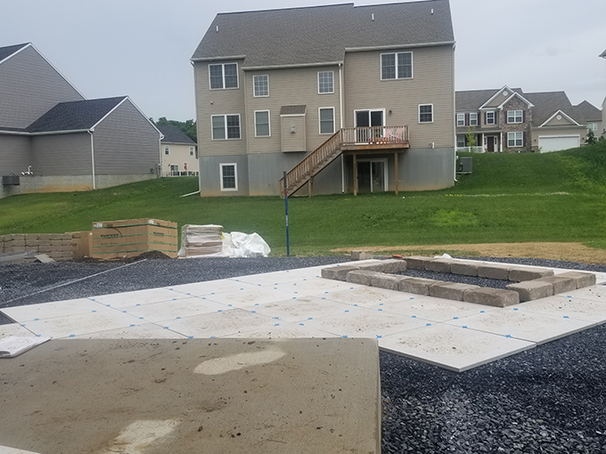
<path fill-rule="evenodd" d="M 233 62 L 238 63 L 238 88 L 210 90 L 209 64 Z M 196 62 L 193 66 L 193 77 L 196 96 L 196 118 L 198 121 L 198 153 L 201 156 L 246 154 L 247 116 L 244 93 L 246 92 L 247 85 L 244 80 L 244 72 L 242 71 L 242 61 Z M 252 80 L 250 80 L 250 83 L 252 83 Z M 250 97 L 252 98 L 252 93 L 250 93 Z M 240 114 L 240 139 L 213 141 L 210 118 L 214 115 L 236 114 Z M 251 131 L 254 137 L 254 125 L 252 125 Z"/>

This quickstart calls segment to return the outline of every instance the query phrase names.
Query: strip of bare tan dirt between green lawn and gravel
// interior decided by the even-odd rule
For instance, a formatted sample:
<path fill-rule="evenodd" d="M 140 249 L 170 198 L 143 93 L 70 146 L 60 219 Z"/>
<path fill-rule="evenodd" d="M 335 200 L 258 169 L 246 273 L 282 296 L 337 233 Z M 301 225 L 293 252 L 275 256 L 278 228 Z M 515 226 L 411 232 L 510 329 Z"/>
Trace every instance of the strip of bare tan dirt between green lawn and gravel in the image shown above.
<path fill-rule="evenodd" d="M 482 257 L 528 257 L 564 260 L 566 262 L 606 264 L 606 250 L 586 247 L 581 243 L 483 243 L 427 246 L 374 246 L 354 249 L 386 252 L 401 255 L 475 255 Z M 333 252 L 349 252 L 352 248 L 341 247 Z"/>

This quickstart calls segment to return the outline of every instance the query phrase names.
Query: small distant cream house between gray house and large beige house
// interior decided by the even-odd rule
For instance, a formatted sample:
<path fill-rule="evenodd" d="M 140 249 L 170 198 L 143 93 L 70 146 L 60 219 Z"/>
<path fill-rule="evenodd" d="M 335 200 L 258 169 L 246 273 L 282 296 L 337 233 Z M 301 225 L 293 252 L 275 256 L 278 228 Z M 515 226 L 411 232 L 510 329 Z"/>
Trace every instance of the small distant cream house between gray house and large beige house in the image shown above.
<path fill-rule="evenodd" d="M 176 126 L 160 126 L 164 135 L 161 141 L 162 176 L 198 174 L 196 142 Z"/>

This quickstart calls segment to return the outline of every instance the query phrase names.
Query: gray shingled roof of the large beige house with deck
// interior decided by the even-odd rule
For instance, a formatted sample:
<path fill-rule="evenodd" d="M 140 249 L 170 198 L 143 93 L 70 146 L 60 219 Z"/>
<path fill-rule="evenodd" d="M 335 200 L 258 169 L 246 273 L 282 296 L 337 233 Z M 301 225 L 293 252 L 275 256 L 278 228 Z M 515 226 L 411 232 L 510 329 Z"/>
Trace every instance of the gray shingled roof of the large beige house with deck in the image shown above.
<path fill-rule="evenodd" d="M 448 0 L 335 4 L 217 14 L 192 60 L 245 56 L 243 69 L 306 65 L 343 61 L 347 48 L 454 41 Z"/>

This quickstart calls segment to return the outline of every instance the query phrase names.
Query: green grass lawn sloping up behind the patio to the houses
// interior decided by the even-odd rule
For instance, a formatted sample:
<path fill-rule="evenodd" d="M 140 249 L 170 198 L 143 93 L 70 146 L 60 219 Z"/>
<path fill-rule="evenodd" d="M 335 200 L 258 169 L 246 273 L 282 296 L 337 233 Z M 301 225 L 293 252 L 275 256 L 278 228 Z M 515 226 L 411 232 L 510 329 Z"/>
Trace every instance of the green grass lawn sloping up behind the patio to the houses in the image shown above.
<path fill-rule="evenodd" d="M 291 254 L 524 241 L 606 248 L 606 146 L 467 156 L 473 173 L 443 191 L 291 197 Z M 273 255 L 285 255 L 283 199 L 179 197 L 197 189 L 195 177 L 183 177 L 0 199 L 0 234 L 82 231 L 93 222 L 155 217 L 179 227 L 217 223 L 225 231 L 256 231 Z"/>

